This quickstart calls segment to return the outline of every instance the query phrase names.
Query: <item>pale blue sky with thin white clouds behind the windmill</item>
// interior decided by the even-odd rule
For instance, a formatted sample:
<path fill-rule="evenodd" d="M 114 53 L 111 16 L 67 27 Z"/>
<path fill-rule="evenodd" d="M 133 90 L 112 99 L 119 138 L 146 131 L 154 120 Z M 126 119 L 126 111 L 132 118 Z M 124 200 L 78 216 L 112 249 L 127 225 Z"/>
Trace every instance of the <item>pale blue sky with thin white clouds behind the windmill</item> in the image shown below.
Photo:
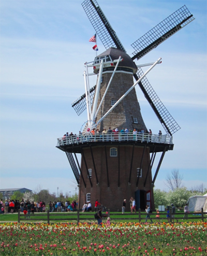
<path fill-rule="evenodd" d="M 71 103 L 84 93 L 84 62 L 94 59 L 93 27 L 82 1 L 1 1 L 1 188 L 41 186 L 56 192 L 75 191 L 66 155 L 55 148 L 66 132 L 78 133 L 87 120 Z M 173 135 L 156 188 L 180 170 L 187 188 L 207 187 L 206 172 L 206 1 L 99 0 L 127 53 L 130 46 L 183 5 L 196 18 L 139 61 L 162 58 L 147 75 L 154 90 L 181 126 Z M 99 52 L 105 51 L 100 40 Z M 132 56 L 132 55 L 131 55 Z M 95 84 L 96 78 L 91 81 Z M 161 124 L 137 90 L 146 126 L 158 133 Z M 153 170 L 154 172 L 154 170 Z"/>

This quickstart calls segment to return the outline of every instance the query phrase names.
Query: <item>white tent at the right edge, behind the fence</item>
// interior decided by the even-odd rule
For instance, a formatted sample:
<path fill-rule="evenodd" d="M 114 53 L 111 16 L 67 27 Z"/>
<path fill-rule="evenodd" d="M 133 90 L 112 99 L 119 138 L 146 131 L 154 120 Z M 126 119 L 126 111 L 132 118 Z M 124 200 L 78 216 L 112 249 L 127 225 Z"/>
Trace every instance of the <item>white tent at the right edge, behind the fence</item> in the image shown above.
<path fill-rule="evenodd" d="M 207 212 L 207 194 L 191 196 L 187 204 L 189 211 L 201 211 L 203 208 L 203 211 Z"/>

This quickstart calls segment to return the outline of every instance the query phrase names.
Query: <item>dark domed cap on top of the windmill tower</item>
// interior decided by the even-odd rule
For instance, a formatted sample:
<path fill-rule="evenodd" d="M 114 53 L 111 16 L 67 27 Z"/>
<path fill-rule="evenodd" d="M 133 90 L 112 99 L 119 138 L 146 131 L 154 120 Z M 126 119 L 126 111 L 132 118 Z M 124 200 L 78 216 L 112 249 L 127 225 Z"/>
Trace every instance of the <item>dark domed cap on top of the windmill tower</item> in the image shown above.
<path fill-rule="evenodd" d="M 109 48 L 105 52 L 100 53 L 97 56 L 97 58 L 101 56 L 107 56 L 107 55 L 110 55 L 112 61 L 118 60 L 121 56 L 123 60 L 120 61 L 119 67 L 130 68 L 133 70 L 133 74 L 137 72 L 137 66 L 135 65 L 134 61 L 132 61 L 131 57 L 127 53 L 123 52 L 122 50 L 116 49 L 116 48 Z M 115 65 L 116 63 L 114 63 L 114 66 Z M 97 73 L 97 69 L 94 70 L 94 73 Z"/>

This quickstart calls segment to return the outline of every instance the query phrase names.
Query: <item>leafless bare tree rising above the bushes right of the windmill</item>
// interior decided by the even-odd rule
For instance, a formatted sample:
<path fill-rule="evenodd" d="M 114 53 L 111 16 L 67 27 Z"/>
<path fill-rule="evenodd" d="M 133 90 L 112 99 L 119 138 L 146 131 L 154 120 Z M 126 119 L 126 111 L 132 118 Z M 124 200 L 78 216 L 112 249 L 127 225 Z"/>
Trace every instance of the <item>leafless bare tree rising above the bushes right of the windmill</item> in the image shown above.
<path fill-rule="evenodd" d="M 174 191 L 176 188 L 181 188 L 182 186 L 183 175 L 180 174 L 179 169 L 173 169 L 171 174 L 168 174 L 166 177 L 166 186 Z"/>

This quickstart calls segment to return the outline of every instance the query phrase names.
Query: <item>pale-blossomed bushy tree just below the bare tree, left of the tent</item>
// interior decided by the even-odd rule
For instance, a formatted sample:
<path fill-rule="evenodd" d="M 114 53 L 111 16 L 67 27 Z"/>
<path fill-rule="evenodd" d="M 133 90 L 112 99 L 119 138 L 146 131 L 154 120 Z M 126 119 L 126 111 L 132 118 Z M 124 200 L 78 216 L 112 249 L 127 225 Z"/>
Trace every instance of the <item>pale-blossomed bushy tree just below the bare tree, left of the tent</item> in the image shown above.
<path fill-rule="evenodd" d="M 176 188 L 169 191 L 166 195 L 168 205 L 174 204 L 175 207 L 184 207 L 191 196 L 191 192 L 186 187 Z"/>

